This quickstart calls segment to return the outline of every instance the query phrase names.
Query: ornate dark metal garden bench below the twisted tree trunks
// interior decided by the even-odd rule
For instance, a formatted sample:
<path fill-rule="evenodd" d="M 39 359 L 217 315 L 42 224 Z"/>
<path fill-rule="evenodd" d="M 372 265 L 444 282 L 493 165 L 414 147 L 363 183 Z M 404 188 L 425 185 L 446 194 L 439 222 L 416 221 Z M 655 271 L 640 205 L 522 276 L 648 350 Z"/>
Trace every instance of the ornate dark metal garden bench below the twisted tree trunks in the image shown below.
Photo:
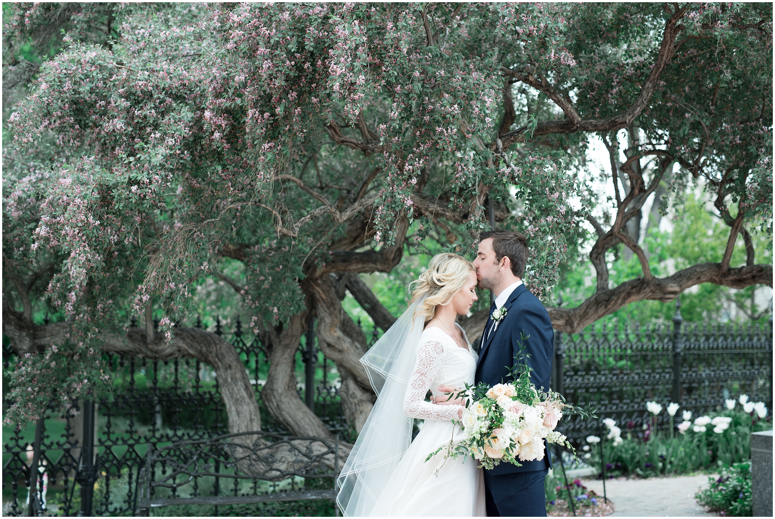
<path fill-rule="evenodd" d="M 176 442 L 149 452 L 139 507 L 209 504 L 217 515 L 219 504 L 332 499 L 340 465 L 338 439 L 254 431 Z"/>

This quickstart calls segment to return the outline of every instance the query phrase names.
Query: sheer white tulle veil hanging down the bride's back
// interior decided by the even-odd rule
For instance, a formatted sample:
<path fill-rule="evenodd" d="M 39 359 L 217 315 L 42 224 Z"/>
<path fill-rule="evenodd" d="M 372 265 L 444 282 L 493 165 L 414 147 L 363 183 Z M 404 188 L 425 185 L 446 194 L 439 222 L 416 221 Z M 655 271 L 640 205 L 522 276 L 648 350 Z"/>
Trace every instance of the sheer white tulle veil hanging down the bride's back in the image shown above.
<path fill-rule="evenodd" d="M 423 315 L 414 318 L 415 309 L 424 300 L 415 301 L 360 359 L 377 402 L 339 474 L 336 503 L 346 517 L 374 511 L 381 490 L 412 443 L 412 418 L 404 414 L 404 397 L 425 325 Z"/>

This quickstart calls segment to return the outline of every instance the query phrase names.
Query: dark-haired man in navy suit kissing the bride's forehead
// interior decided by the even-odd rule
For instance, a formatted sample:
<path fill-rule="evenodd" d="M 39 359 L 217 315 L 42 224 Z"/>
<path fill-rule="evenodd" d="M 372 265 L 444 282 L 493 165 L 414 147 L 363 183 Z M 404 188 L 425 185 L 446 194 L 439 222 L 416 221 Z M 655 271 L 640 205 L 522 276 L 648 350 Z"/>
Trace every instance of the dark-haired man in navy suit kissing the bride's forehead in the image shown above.
<path fill-rule="evenodd" d="M 488 231 L 480 238 L 474 260 L 477 281 L 479 287 L 493 291 L 495 301 L 479 346 L 475 382 L 494 386 L 508 380 L 509 368 L 516 362 L 514 357 L 524 335 L 528 339 L 522 353 L 529 358 L 521 362 L 532 368 L 533 385 L 548 390 L 554 332 L 546 308 L 522 283 L 529 253 L 525 236 L 511 231 Z M 496 308 L 506 311 L 499 321 L 493 320 Z M 484 471 L 488 516 L 546 516 L 543 481 L 550 466 L 546 443 L 543 459 L 521 463 L 521 467 L 501 463 Z"/>

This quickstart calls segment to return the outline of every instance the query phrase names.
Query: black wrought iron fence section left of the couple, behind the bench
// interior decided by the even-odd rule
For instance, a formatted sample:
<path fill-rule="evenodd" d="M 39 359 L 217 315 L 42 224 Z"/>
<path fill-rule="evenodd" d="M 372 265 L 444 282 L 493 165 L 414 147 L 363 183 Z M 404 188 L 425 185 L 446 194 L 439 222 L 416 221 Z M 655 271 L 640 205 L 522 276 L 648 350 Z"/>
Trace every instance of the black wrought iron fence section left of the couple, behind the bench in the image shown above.
<path fill-rule="evenodd" d="M 215 333 L 222 335 L 222 328 L 216 321 Z M 260 403 L 269 363 L 259 337 L 246 335 L 239 318 L 229 335 L 256 391 L 264 431 L 284 432 Z M 12 349 L 3 349 L 6 369 L 14 363 L 13 356 Z M 63 416 L 48 411 L 37 424 L 35 438 L 21 426 L 4 435 L 5 515 L 135 515 L 138 477 L 149 446 L 158 449 L 228 432 L 211 366 L 195 359 L 160 362 L 109 355 L 105 360 L 115 381 L 113 401 L 74 401 Z M 314 332 L 302 340 L 295 362 L 299 397 L 329 428 L 346 429 L 339 375 L 315 344 Z M 9 404 L 4 400 L 4 407 Z M 84 445 L 94 445 L 94 452 L 85 452 Z M 38 467 L 36 481 L 30 477 L 31 466 Z M 30 484 L 38 487 L 37 493 L 27 491 Z M 25 501 L 27 495 L 33 497 L 32 504 Z"/>

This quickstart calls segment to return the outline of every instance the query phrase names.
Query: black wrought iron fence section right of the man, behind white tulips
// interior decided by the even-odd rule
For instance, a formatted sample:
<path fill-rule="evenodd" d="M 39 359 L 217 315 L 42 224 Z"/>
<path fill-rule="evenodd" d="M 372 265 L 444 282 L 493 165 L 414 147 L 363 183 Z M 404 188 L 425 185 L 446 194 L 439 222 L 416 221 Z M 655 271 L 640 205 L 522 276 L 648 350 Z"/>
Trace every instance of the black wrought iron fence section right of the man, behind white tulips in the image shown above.
<path fill-rule="evenodd" d="M 563 433 L 580 441 L 598 434 L 603 418 L 642 428 L 653 416 L 646 411 L 649 400 L 663 407 L 676 402 L 699 416 L 747 394 L 771 409 L 772 336 L 771 317 L 765 326 L 684 324 L 680 303 L 672 326 L 555 332 L 553 389 L 570 404 L 596 407 L 599 417 L 571 418 Z M 657 426 L 670 426 L 667 414 L 660 414 Z"/>

